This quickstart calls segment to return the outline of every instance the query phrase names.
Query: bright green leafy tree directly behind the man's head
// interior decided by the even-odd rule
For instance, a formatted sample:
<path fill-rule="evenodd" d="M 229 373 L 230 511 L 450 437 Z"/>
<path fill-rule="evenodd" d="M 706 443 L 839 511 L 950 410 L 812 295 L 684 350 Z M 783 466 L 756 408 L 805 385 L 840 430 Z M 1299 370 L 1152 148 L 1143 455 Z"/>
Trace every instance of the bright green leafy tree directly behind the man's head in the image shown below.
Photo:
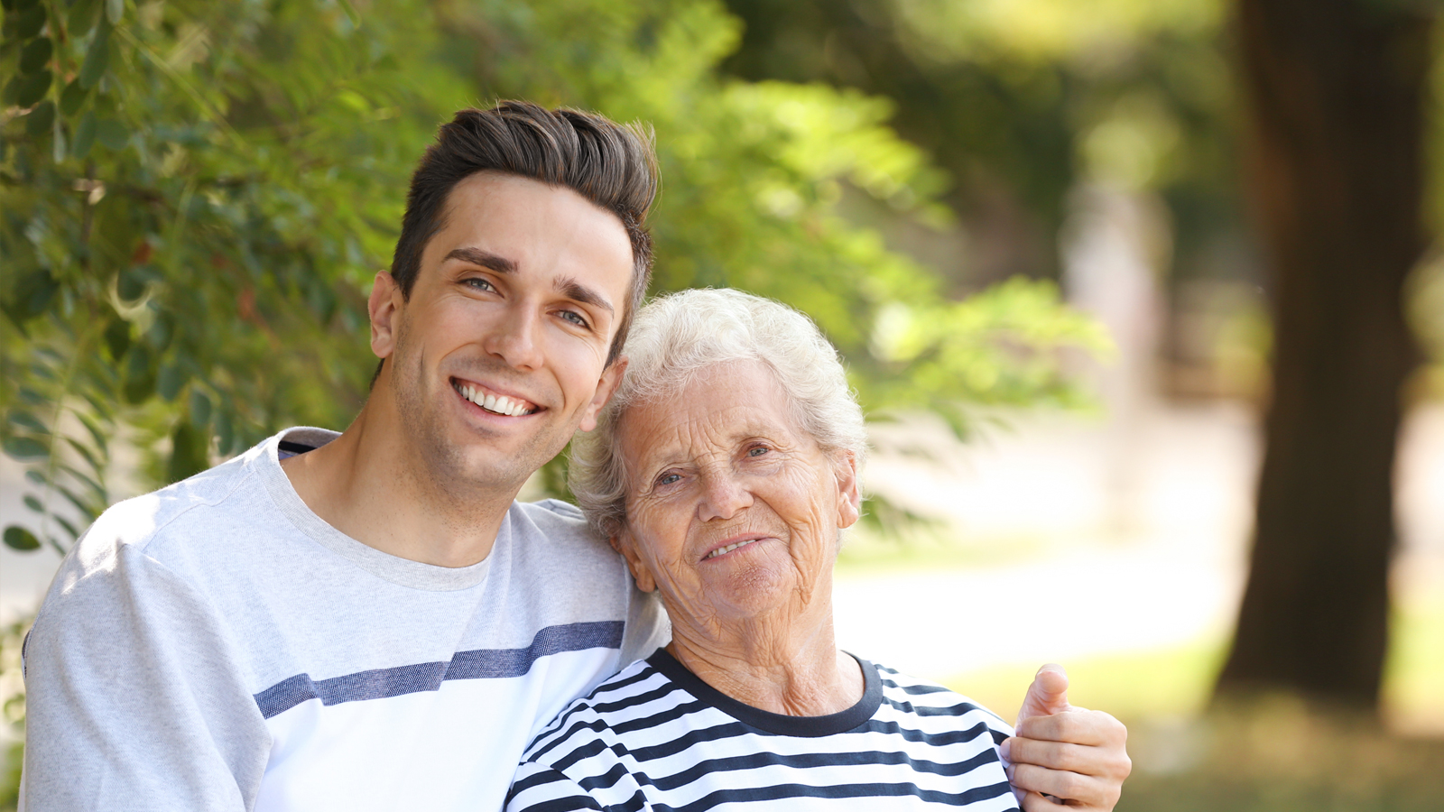
<path fill-rule="evenodd" d="M 869 409 L 1070 399 L 1100 345 L 1050 285 L 967 302 L 836 212 L 937 207 L 891 107 L 716 66 L 710 0 L 0 0 L 0 407 L 27 465 L 16 549 L 64 550 L 113 498 L 365 396 L 365 293 L 436 123 L 524 97 L 654 123 L 657 290 L 731 285 L 810 312 Z M 482 101 L 484 103 L 484 101 Z M 556 483 L 554 475 L 550 481 Z"/>

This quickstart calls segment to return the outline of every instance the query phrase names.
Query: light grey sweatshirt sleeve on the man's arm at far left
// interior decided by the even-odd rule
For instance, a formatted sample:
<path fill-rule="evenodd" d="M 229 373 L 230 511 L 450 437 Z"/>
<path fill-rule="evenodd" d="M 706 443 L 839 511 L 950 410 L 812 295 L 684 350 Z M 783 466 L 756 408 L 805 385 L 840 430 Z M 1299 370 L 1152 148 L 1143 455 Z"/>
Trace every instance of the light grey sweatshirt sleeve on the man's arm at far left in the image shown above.
<path fill-rule="evenodd" d="M 20 811 L 250 809 L 270 734 L 225 626 L 134 545 L 77 552 L 23 649 Z"/>

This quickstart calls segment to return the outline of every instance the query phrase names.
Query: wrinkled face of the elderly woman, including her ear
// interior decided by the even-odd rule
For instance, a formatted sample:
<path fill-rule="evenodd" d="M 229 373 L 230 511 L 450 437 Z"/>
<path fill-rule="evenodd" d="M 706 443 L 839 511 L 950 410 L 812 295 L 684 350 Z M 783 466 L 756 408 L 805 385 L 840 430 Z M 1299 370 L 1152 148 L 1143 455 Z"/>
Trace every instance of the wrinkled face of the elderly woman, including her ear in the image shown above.
<path fill-rule="evenodd" d="M 830 585 L 838 532 L 858 520 L 856 461 L 825 454 L 787 406 L 768 367 L 734 361 L 622 418 L 615 543 L 673 624 L 801 611 Z"/>

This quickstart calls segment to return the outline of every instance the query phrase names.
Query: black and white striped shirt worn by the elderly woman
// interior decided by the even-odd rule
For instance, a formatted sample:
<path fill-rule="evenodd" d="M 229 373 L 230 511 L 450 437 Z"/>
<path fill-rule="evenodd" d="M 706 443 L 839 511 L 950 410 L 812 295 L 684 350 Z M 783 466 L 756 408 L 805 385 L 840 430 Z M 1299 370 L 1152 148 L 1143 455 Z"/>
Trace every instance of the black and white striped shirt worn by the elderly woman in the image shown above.
<path fill-rule="evenodd" d="M 858 662 L 862 701 L 787 717 L 726 696 L 657 650 L 533 740 L 507 812 L 1018 809 L 996 750 L 1012 735 L 1006 722 L 940 685 Z"/>

